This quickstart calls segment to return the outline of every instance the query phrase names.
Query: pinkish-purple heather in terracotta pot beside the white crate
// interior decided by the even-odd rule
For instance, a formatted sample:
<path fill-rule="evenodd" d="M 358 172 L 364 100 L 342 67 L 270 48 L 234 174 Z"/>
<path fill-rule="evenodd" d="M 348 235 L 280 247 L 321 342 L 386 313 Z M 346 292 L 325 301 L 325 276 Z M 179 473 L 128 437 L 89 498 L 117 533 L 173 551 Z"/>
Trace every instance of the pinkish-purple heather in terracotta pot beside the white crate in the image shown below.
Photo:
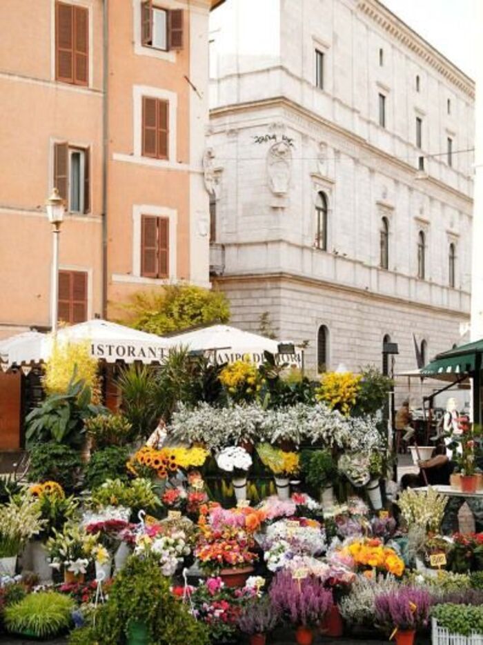
<path fill-rule="evenodd" d="M 382 624 L 417 629 L 428 625 L 433 602 L 426 589 L 401 586 L 375 597 L 375 615 Z"/>

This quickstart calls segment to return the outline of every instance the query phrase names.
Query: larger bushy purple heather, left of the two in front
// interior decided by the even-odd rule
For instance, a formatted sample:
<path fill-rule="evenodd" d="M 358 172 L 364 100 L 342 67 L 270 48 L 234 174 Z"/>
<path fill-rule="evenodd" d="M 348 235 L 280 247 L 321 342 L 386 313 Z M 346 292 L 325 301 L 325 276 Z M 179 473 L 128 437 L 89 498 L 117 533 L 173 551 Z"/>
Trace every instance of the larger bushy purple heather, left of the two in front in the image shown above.
<path fill-rule="evenodd" d="M 318 578 L 310 575 L 295 580 L 287 570 L 275 575 L 269 595 L 275 611 L 297 627 L 319 624 L 333 605 L 332 592 Z"/>

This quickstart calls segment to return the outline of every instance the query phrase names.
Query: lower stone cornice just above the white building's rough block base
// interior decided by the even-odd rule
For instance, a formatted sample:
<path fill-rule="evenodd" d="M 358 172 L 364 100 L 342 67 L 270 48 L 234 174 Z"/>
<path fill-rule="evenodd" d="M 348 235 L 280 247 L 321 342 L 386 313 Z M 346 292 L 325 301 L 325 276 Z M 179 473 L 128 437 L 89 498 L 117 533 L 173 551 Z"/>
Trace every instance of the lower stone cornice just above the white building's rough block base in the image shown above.
<path fill-rule="evenodd" d="M 447 316 L 451 316 L 453 318 L 456 318 L 458 320 L 469 320 L 470 315 L 469 312 L 463 312 L 460 310 L 452 310 L 452 309 L 446 309 L 444 307 L 437 307 L 435 305 L 430 305 L 422 302 L 414 302 L 412 300 L 406 300 L 404 298 L 398 298 L 395 296 L 388 296 L 384 295 L 381 293 L 376 293 L 373 291 L 366 291 L 363 289 L 359 289 L 357 287 L 353 286 L 348 286 L 348 285 L 340 285 L 336 284 L 334 282 L 329 282 L 329 281 L 324 281 L 324 280 L 319 280 L 319 279 L 314 279 L 314 278 L 309 278 L 306 276 L 302 275 L 296 275 L 294 273 L 288 273 L 288 272 L 272 272 L 272 273 L 245 273 L 244 275 L 220 275 L 215 278 L 213 278 L 214 283 L 248 283 L 250 286 L 253 286 L 254 282 L 268 282 L 268 281 L 287 281 L 291 282 L 293 284 L 304 284 L 306 286 L 315 286 L 315 287 L 324 287 L 326 289 L 329 289 L 331 291 L 337 291 L 337 292 L 345 292 L 345 293 L 352 293 L 353 295 L 357 295 L 359 297 L 364 297 L 367 299 L 371 300 L 376 300 L 380 302 L 385 302 L 385 303 L 391 303 L 391 304 L 401 304 L 406 307 L 412 307 L 416 310 L 427 310 L 429 312 L 438 312 L 442 313 Z"/>

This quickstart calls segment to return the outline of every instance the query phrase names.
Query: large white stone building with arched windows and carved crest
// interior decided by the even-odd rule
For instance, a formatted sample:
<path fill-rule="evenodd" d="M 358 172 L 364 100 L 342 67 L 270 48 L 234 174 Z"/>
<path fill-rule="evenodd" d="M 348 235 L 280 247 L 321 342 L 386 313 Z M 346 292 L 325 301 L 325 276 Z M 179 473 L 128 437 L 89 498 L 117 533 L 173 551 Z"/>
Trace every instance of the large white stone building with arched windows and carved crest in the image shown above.
<path fill-rule="evenodd" d="M 377 0 L 227 0 L 210 26 L 215 286 L 311 368 L 416 367 L 469 321 L 474 84 Z"/>

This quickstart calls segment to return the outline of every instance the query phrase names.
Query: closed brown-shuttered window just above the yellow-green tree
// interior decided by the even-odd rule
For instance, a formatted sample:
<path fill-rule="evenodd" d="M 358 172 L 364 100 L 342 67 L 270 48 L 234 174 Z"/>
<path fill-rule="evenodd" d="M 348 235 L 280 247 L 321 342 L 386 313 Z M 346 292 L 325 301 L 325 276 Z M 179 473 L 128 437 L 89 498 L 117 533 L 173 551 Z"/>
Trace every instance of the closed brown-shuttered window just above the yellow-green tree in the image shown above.
<path fill-rule="evenodd" d="M 141 276 L 169 277 L 169 219 L 141 217 Z"/>

